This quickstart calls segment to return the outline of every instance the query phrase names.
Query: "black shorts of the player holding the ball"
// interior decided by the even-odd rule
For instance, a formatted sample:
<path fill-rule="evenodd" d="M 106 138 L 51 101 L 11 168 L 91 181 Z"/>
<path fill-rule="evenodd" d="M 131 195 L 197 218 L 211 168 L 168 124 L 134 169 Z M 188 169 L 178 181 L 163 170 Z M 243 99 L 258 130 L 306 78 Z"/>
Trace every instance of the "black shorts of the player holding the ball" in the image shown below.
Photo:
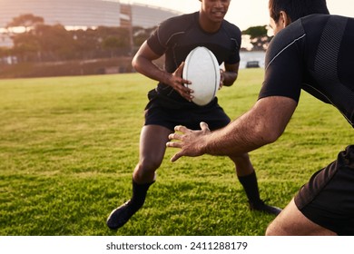
<path fill-rule="evenodd" d="M 161 125 L 171 131 L 176 125 L 184 125 L 192 130 L 200 130 L 200 122 L 206 122 L 211 131 L 220 129 L 229 122 L 230 117 L 218 104 L 217 98 L 206 106 L 192 106 L 181 108 L 168 107 L 166 102 L 159 102 L 154 98 L 145 108 L 144 125 Z"/>

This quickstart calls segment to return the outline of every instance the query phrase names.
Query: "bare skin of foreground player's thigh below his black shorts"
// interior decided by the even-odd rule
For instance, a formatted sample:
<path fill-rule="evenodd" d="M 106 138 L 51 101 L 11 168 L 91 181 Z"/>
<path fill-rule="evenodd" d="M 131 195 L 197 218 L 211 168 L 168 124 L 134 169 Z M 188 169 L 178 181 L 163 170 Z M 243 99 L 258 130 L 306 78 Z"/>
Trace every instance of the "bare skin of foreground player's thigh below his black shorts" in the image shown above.
<path fill-rule="evenodd" d="M 336 236 L 333 231 L 327 230 L 306 218 L 296 207 L 292 199 L 288 206 L 280 212 L 266 230 L 267 236 Z"/>

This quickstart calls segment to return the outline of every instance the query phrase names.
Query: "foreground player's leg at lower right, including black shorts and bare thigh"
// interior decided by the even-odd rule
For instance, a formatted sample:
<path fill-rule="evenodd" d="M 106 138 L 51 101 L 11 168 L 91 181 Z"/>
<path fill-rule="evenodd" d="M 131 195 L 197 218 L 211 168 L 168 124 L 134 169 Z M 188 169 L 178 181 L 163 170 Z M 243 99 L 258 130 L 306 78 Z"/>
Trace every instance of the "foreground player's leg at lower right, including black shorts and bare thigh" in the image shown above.
<path fill-rule="evenodd" d="M 315 172 L 267 235 L 354 235 L 354 146 Z"/>

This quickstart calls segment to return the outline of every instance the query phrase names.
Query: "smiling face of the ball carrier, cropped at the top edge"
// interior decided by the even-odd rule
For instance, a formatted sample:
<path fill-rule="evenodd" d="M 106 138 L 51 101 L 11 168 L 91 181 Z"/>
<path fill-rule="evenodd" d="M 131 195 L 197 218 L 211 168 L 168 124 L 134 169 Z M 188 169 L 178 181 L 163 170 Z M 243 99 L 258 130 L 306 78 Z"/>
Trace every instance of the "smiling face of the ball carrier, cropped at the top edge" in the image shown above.
<path fill-rule="evenodd" d="M 231 0 L 200 0 L 202 13 L 211 22 L 221 22 L 226 15 Z"/>

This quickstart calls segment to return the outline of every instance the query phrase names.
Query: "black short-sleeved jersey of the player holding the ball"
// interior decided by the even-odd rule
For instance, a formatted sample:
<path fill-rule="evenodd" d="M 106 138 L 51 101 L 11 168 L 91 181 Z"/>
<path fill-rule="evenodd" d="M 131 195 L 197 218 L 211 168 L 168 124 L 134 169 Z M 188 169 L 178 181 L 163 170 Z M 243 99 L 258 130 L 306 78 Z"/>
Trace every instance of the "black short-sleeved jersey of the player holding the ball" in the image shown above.
<path fill-rule="evenodd" d="M 240 62 L 241 31 L 226 20 L 216 33 L 207 33 L 199 24 L 199 12 L 167 19 L 147 40 L 155 54 L 165 54 L 164 68 L 173 73 L 197 46 L 204 46 L 218 59 L 219 64 Z M 175 102 L 189 103 L 172 87 L 159 83 L 158 92 Z"/>

